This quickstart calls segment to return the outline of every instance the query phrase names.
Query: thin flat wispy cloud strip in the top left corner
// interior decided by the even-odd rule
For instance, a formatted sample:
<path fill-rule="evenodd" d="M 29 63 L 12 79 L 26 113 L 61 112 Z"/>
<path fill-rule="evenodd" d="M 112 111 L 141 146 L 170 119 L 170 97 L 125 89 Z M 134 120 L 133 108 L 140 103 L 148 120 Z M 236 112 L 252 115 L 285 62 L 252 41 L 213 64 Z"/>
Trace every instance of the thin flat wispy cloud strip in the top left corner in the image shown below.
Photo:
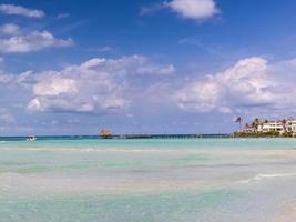
<path fill-rule="evenodd" d="M 0 4 L 0 13 L 23 16 L 29 18 L 43 18 L 45 13 L 41 10 L 29 9 L 16 4 Z"/>

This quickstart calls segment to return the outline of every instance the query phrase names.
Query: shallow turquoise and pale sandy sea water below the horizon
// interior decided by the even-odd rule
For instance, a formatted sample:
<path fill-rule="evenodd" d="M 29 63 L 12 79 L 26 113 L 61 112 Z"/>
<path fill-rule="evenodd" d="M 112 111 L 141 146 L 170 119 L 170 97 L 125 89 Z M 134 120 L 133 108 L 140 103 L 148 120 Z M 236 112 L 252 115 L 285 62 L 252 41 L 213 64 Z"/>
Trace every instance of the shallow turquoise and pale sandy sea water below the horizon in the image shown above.
<path fill-rule="evenodd" d="M 0 139 L 0 222 L 274 222 L 295 139 Z"/>

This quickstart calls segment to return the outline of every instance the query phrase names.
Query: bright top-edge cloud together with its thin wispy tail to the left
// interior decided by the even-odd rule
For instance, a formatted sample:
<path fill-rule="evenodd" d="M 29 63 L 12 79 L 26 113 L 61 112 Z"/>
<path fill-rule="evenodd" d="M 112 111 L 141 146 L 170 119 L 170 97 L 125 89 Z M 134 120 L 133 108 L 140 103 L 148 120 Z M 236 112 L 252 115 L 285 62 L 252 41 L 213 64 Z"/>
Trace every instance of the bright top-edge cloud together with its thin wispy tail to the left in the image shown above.
<path fill-rule="evenodd" d="M 193 20 L 208 19 L 220 12 L 214 0 L 171 0 L 161 4 L 143 7 L 140 14 L 144 16 L 162 9 L 170 9 L 182 18 Z"/>

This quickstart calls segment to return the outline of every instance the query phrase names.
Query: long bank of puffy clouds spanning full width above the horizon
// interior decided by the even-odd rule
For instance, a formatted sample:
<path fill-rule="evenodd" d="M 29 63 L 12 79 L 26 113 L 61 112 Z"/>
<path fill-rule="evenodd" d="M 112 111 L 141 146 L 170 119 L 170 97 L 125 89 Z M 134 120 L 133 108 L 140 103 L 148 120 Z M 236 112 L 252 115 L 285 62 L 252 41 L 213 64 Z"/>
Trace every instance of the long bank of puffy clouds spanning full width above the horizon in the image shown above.
<path fill-rule="evenodd" d="M 182 73 L 167 75 L 177 72 L 172 64 L 155 64 L 142 56 L 93 58 L 60 71 L 0 72 L 0 94 L 6 102 L 22 103 L 18 109 L 33 112 L 124 114 L 139 104 L 163 112 L 177 104 L 188 112 L 285 117 L 296 112 L 295 61 L 252 57 L 188 81 Z"/>

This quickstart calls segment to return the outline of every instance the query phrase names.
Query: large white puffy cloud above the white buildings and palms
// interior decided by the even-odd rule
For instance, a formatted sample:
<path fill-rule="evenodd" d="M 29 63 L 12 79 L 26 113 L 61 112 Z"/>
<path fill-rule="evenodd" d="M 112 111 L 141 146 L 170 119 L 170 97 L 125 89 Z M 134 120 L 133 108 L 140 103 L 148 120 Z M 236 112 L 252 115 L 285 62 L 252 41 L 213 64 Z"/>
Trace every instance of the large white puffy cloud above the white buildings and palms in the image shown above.
<path fill-rule="evenodd" d="M 296 71 L 290 62 L 287 69 Z M 176 93 L 176 101 L 181 109 L 192 112 L 296 109 L 294 87 L 283 79 L 283 62 L 268 64 L 259 57 L 243 59 L 224 72 L 186 84 Z"/>

